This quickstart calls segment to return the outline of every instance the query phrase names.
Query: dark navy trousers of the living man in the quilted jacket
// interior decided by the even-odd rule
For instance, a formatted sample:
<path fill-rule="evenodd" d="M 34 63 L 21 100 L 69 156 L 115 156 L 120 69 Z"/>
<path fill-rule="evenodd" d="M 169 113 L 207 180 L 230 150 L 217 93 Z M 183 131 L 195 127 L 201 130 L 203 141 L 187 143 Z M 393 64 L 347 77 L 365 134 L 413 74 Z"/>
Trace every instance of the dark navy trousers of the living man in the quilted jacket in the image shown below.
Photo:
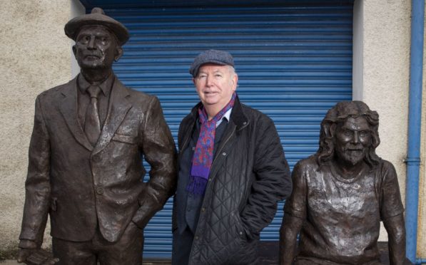
<path fill-rule="evenodd" d="M 192 242 L 194 234 L 188 226 L 185 231 L 179 234 L 179 229 L 173 232 L 173 250 L 171 254 L 172 265 L 186 265 L 189 262 L 189 255 L 191 254 Z"/>

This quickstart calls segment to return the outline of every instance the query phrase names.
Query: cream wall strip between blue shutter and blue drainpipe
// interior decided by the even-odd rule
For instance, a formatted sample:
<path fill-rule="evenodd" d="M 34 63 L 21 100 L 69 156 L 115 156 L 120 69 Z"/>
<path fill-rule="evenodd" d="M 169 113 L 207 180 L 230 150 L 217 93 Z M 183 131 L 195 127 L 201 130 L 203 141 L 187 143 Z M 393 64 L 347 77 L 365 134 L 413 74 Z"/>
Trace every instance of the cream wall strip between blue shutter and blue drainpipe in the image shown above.
<path fill-rule="evenodd" d="M 357 1 L 362 1 L 357 4 L 363 13 L 362 93 L 358 95 L 380 115 L 377 155 L 395 166 L 405 201 L 411 4 L 409 0 Z M 379 240 L 387 241 L 383 228 Z"/>

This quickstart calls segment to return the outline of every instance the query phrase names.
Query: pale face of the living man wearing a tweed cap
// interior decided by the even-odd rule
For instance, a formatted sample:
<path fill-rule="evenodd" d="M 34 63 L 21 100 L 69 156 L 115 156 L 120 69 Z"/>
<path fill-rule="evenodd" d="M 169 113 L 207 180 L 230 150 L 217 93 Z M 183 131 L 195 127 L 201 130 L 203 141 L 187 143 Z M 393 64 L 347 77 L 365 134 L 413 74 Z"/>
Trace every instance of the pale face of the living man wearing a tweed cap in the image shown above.
<path fill-rule="evenodd" d="M 193 78 L 196 90 L 204 106 L 215 106 L 221 110 L 228 104 L 237 88 L 238 76 L 230 66 L 206 63 Z"/>

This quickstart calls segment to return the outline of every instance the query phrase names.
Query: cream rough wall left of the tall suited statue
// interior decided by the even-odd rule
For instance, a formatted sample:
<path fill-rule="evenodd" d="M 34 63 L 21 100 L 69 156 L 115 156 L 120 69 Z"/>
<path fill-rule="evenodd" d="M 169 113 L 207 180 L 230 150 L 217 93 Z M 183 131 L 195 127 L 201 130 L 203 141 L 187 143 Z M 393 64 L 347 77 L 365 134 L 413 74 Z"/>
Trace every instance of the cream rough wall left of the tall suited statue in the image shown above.
<path fill-rule="evenodd" d="M 0 1 L 0 258 L 18 244 L 34 100 L 71 79 L 71 40 L 64 25 L 72 4 Z"/>

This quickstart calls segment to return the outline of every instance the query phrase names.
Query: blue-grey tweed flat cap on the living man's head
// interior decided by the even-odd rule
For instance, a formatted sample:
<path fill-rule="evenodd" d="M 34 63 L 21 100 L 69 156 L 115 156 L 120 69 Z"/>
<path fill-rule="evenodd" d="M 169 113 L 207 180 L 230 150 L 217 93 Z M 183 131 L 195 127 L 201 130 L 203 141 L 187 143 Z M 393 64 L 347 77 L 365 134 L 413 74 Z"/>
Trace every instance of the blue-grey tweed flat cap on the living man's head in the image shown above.
<path fill-rule="evenodd" d="M 220 66 L 234 66 L 234 58 L 228 51 L 203 51 L 194 59 L 191 68 L 189 68 L 189 73 L 195 78 L 198 75 L 198 69 L 206 63 L 215 63 Z"/>

